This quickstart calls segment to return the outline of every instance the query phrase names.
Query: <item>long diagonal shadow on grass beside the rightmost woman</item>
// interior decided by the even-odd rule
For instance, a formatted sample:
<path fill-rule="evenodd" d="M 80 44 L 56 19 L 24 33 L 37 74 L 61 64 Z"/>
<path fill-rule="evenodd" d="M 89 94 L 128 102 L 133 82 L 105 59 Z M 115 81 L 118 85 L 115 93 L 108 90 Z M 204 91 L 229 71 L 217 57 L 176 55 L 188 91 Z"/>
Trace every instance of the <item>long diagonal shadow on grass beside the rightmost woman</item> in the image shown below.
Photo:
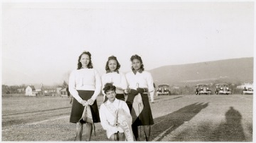
<path fill-rule="evenodd" d="M 166 116 L 157 117 L 154 119 L 154 125 L 151 127 L 151 140 L 158 137 L 155 141 L 162 140 L 167 134 L 170 134 L 174 129 L 177 129 L 184 122 L 195 117 L 196 114 L 206 108 L 208 103 L 194 103 L 189 106 L 167 114 Z M 172 127 L 172 128 L 171 128 Z M 161 134 L 165 132 L 164 134 Z"/>

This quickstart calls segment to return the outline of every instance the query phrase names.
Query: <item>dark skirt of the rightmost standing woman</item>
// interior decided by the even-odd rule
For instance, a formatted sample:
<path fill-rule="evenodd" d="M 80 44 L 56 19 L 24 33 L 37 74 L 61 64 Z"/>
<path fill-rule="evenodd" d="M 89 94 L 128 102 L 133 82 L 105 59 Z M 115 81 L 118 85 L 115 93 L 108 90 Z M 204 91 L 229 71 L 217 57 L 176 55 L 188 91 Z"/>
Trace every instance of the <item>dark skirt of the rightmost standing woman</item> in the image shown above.
<path fill-rule="evenodd" d="M 134 100 L 134 97 L 137 96 L 137 94 L 128 94 L 128 98 L 126 100 L 127 106 L 130 109 L 132 109 L 132 103 Z M 139 117 L 135 120 L 132 125 L 134 126 L 139 126 L 139 125 L 152 125 L 154 124 L 154 120 L 152 117 L 152 112 L 151 112 L 151 107 L 149 105 L 149 100 L 148 100 L 148 94 L 142 94 L 142 99 L 143 99 L 143 111 L 140 113 Z"/>

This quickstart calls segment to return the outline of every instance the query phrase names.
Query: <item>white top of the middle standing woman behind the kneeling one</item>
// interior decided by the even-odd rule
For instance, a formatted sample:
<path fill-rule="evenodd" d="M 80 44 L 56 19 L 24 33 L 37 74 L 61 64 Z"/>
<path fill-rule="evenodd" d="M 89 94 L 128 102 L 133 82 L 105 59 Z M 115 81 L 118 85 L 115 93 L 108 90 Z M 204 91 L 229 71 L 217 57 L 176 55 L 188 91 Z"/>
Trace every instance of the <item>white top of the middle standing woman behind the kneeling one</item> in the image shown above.
<path fill-rule="evenodd" d="M 124 90 L 127 89 L 127 81 L 123 72 L 108 72 L 102 74 L 102 89 L 106 83 L 113 83 L 117 94 L 124 94 Z M 102 92 L 104 94 L 104 92 Z"/>

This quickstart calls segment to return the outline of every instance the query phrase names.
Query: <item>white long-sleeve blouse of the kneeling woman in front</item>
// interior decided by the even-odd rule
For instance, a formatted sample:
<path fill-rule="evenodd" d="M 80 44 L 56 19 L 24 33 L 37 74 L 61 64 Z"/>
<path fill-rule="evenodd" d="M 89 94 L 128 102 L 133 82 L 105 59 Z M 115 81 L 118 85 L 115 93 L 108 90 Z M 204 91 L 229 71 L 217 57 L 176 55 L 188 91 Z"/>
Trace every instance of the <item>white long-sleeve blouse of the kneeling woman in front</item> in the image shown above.
<path fill-rule="evenodd" d="M 116 108 L 116 111 L 118 109 L 124 109 L 124 111 L 130 115 L 131 117 L 131 114 L 130 114 L 130 110 L 127 106 L 127 104 L 125 103 L 125 101 L 123 100 L 118 100 L 118 99 L 115 99 L 113 101 L 113 103 L 111 103 L 109 100 L 107 100 L 105 103 L 103 103 L 100 107 L 100 117 L 101 117 L 101 124 L 102 124 L 102 128 L 105 129 L 107 131 L 107 136 L 108 138 L 114 134 L 114 133 L 117 133 L 118 131 L 120 133 L 123 133 L 124 130 L 121 129 L 120 127 L 117 127 L 117 126 L 113 126 L 115 121 L 116 121 L 116 117 L 113 116 L 113 113 L 111 113 L 109 110 L 108 110 L 108 107 L 105 106 L 104 104 L 112 104 L 114 108 Z"/>

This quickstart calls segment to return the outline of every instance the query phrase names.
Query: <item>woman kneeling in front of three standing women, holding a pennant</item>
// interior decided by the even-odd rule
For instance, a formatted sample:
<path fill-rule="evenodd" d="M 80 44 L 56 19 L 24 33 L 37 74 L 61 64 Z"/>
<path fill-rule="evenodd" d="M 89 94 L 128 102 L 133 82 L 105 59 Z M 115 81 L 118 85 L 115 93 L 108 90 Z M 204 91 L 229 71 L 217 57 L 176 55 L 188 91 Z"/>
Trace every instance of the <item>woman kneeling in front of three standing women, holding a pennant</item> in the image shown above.
<path fill-rule="evenodd" d="M 133 141 L 131 114 L 125 101 L 115 98 L 116 87 L 106 83 L 103 89 L 108 100 L 100 107 L 102 128 L 107 131 L 109 140 Z"/>

